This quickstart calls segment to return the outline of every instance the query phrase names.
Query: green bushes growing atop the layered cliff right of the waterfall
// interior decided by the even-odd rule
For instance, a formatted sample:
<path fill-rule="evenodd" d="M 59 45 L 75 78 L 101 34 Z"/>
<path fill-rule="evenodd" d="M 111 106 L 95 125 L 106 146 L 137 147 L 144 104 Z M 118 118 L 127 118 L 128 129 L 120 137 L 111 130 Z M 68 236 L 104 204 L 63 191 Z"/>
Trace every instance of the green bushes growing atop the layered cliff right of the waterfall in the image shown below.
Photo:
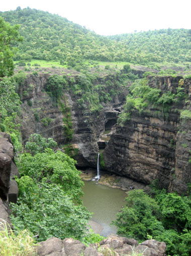
<path fill-rule="evenodd" d="M 180 83 L 182 83 L 183 79 L 180 80 Z M 144 114 L 144 111 L 152 108 L 156 112 L 160 111 L 163 119 L 168 118 L 172 104 L 178 105 L 186 97 L 181 84 L 176 88 L 176 93 L 172 93 L 171 91 L 162 93 L 160 89 L 149 86 L 148 82 L 146 78 L 143 78 L 136 80 L 130 86 L 130 93 L 126 97 L 124 112 L 118 119 L 119 123 L 123 124 L 129 121 L 134 109 L 138 110 L 139 114 Z M 189 110 L 182 111 L 180 119 L 188 118 L 188 113 Z"/>

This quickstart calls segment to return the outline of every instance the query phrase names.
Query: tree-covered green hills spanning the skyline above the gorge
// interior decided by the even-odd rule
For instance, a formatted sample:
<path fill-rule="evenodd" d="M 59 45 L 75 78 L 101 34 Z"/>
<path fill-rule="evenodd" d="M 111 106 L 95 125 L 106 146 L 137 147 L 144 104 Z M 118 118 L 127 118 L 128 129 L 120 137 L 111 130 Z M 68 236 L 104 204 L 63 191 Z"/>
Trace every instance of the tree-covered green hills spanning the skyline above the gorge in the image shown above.
<path fill-rule="evenodd" d="M 66 18 L 35 9 L 17 8 L 0 15 L 12 25 L 20 24 L 24 41 L 19 44 L 15 60 L 59 60 L 71 66 L 82 59 L 134 64 L 191 61 L 191 30 L 188 29 L 106 37 Z"/>

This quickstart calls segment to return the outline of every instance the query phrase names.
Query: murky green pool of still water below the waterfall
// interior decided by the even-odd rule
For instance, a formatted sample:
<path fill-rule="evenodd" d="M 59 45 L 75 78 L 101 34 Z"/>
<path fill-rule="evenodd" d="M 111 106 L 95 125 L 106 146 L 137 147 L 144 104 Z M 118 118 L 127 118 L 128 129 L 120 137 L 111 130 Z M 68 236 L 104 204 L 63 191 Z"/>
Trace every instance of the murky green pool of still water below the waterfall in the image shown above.
<path fill-rule="evenodd" d="M 102 225 L 101 235 L 116 234 L 117 227 L 110 226 L 110 224 L 116 220 L 116 214 L 119 213 L 121 207 L 125 206 L 124 199 L 127 194 L 122 189 L 96 183 L 97 181 L 84 181 L 83 204 L 90 212 L 93 212 L 90 220 Z"/>

